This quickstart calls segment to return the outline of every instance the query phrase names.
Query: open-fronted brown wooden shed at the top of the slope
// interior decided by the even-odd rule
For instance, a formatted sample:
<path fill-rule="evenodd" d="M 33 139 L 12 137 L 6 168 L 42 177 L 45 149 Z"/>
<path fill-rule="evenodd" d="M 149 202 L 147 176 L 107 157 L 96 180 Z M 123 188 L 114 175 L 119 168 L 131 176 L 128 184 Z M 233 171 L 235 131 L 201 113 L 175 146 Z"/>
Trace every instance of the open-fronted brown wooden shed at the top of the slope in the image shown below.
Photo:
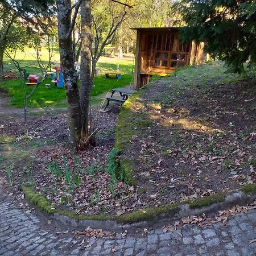
<path fill-rule="evenodd" d="M 179 28 L 133 28 L 137 30 L 134 89 L 150 81 L 152 75 L 165 76 L 187 64 L 200 64 L 206 59 L 204 43 L 183 43 Z"/>

